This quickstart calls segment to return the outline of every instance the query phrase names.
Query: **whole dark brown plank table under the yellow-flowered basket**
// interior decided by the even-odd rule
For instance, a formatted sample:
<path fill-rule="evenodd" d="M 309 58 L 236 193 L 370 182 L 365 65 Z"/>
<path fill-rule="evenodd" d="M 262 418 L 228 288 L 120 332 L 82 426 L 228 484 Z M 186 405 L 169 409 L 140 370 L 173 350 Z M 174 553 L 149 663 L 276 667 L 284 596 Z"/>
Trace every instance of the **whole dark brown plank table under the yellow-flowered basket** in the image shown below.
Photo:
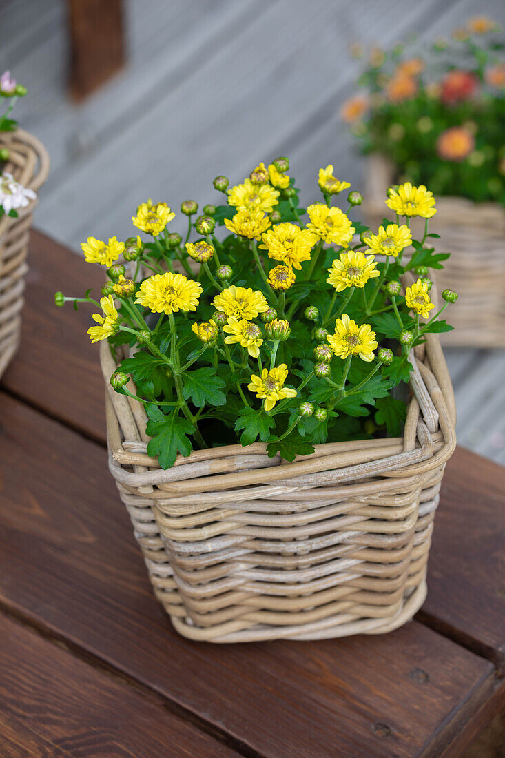
<path fill-rule="evenodd" d="M 428 600 L 405 627 L 187 641 L 108 474 L 89 309 L 53 305 L 102 274 L 35 232 L 30 265 L 0 390 L 2 756 L 462 756 L 505 704 L 505 469 L 465 449 L 447 465 Z"/>

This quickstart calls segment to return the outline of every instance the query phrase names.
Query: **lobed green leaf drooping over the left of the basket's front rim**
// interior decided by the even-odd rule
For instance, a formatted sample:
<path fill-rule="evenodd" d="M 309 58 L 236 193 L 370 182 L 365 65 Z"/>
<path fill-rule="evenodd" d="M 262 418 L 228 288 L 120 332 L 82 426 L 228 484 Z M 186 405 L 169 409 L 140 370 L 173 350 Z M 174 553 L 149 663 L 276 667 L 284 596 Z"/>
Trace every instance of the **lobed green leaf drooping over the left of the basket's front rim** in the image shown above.
<path fill-rule="evenodd" d="M 171 468 L 177 457 L 189 456 L 193 448 L 188 434 L 193 433 L 193 426 L 187 418 L 180 418 L 174 411 L 165 416 L 157 406 L 147 408 L 149 421 L 146 432 L 152 439 L 147 443 L 149 456 L 158 456 L 162 468 Z"/>

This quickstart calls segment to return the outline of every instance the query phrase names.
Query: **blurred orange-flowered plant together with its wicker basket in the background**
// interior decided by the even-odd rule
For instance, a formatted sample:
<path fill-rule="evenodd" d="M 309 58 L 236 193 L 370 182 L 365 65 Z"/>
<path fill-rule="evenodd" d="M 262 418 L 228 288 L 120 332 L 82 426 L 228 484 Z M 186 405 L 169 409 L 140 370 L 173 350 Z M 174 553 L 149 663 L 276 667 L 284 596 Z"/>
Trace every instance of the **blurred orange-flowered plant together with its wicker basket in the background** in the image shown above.
<path fill-rule="evenodd" d="M 449 344 L 505 346 L 505 58 L 500 27 L 469 20 L 453 38 L 375 49 L 359 79 L 365 96 L 341 114 L 368 155 L 367 223 L 388 186 L 409 180 L 438 196 L 434 246 L 454 253 L 443 272 L 463 297 Z M 359 46 L 354 52 L 361 54 Z M 422 233 L 416 226 L 416 234 Z M 483 332 L 485 331 L 485 335 Z"/>

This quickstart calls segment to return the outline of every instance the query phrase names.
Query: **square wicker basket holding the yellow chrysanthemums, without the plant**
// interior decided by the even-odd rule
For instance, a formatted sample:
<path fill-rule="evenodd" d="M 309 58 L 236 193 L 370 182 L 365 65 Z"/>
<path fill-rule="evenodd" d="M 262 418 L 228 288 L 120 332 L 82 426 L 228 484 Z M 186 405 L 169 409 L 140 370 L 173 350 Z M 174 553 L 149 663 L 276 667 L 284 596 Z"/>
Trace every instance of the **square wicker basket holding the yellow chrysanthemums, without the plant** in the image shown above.
<path fill-rule="evenodd" d="M 456 412 L 435 335 L 412 356 L 403 437 L 316 446 L 293 463 L 255 443 L 197 450 L 163 470 L 146 415 L 108 382 L 109 467 L 156 597 L 193 640 L 378 634 L 412 618 Z M 135 390 L 130 384 L 130 389 Z"/>

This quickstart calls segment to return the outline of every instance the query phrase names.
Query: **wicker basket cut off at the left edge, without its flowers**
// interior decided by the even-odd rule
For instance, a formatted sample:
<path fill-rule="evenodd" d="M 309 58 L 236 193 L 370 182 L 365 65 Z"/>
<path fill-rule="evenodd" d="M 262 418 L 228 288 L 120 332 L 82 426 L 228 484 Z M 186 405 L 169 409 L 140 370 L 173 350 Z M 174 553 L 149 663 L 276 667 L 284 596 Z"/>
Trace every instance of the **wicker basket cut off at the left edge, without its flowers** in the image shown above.
<path fill-rule="evenodd" d="M 0 132 L 0 148 L 8 148 L 5 171 L 24 187 L 39 189 L 49 174 L 49 155 L 38 139 L 18 129 Z M 36 200 L 20 208 L 17 218 L 0 218 L 0 376 L 20 343 L 24 276 L 28 271 L 28 237 Z"/>

